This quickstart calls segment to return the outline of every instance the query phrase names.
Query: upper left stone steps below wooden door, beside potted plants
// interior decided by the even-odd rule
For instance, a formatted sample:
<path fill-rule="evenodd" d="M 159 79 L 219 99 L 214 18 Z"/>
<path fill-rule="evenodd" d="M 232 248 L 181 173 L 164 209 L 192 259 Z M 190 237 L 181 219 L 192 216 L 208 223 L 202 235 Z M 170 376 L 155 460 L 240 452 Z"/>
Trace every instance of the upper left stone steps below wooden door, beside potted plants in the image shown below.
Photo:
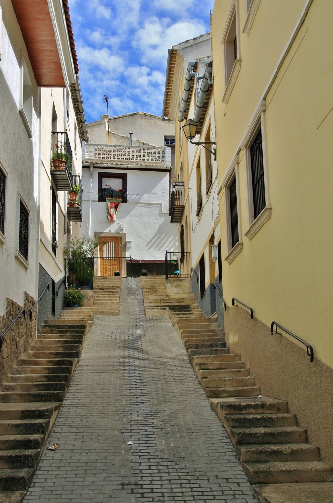
<path fill-rule="evenodd" d="M 89 307 L 65 307 L 62 320 L 92 321 L 95 314 L 104 316 L 119 315 L 120 276 L 96 276 L 94 279 L 94 300 Z M 84 293 L 84 291 L 82 291 Z"/>

